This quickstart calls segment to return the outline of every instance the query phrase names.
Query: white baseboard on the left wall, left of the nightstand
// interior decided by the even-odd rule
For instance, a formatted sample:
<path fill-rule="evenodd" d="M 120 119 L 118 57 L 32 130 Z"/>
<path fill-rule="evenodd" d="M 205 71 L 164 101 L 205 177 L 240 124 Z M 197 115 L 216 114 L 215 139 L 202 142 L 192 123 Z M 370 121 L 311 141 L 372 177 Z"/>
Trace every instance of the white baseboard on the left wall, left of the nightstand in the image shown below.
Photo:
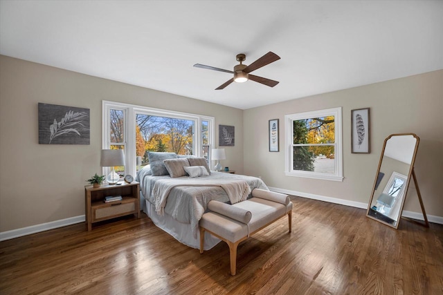
<path fill-rule="evenodd" d="M 66 227 L 66 225 L 74 225 L 75 223 L 84 222 L 84 220 L 86 220 L 84 215 L 80 215 L 42 223 L 41 225 L 32 225 L 30 227 L 23 227 L 21 229 L 12 229 L 12 231 L 2 231 L 0 232 L 0 241 L 27 236 L 30 234 L 39 233 L 40 231 L 47 231 L 49 229 L 56 229 L 57 227 Z"/>

